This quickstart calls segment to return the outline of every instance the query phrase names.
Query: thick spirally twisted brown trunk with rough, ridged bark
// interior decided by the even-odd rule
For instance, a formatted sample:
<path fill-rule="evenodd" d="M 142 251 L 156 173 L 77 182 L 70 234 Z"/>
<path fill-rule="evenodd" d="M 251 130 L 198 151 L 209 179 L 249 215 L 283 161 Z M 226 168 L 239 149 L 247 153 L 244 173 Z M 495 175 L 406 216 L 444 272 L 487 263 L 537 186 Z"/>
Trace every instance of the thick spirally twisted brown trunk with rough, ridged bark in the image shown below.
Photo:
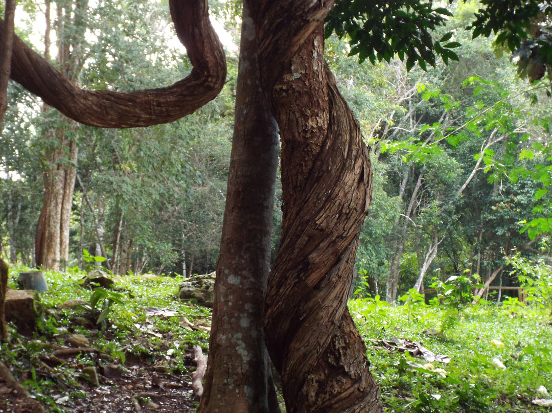
<path fill-rule="evenodd" d="M 283 232 L 264 320 L 289 413 L 381 411 L 347 310 L 371 166 L 323 59 L 330 6 L 279 1 L 256 15 L 264 87 L 282 139 Z"/>

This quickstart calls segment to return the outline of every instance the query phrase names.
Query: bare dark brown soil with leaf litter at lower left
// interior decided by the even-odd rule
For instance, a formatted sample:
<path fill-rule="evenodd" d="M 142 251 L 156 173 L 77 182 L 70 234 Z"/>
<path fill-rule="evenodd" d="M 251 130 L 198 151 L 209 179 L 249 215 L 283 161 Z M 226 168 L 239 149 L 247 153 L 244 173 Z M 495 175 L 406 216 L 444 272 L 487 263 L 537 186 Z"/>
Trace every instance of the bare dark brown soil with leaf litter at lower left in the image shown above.
<path fill-rule="evenodd" d="M 101 332 L 100 332 L 101 333 Z M 167 337 L 168 339 L 169 337 Z M 188 373 L 171 374 L 161 365 L 161 359 L 131 358 L 126 359 L 125 366 L 116 364 L 107 354 L 90 347 L 60 347 L 52 338 L 44 342 L 44 351 L 40 354 L 40 366 L 35 369 L 35 380 L 30 380 L 29 372 L 12 371 L 20 382 L 36 382 L 40 378 L 50 378 L 57 388 L 47 391 L 40 397 L 39 390 L 28 390 L 36 393 L 41 405 L 47 412 L 75 413 L 187 413 L 195 411 L 197 401 L 192 394 L 191 378 Z M 95 361 L 97 384 L 94 375 L 79 358 L 87 355 Z M 192 353 L 187 360 L 190 369 Z M 71 369 L 70 376 L 66 370 Z M 85 374 L 84 372 L 88 373 Z M 68 370 L 67 370 L 68 371 Z M 3 377 L 0 368 L 0 413 L 39 413 L 40 405 L 22 391 L 13 378 Z M 9 375 L 9 374 L 8 374 Z M 75 380 L 76 378 L 76 380 Z M 71 394 L 68 397 L 67 394 Z"/>

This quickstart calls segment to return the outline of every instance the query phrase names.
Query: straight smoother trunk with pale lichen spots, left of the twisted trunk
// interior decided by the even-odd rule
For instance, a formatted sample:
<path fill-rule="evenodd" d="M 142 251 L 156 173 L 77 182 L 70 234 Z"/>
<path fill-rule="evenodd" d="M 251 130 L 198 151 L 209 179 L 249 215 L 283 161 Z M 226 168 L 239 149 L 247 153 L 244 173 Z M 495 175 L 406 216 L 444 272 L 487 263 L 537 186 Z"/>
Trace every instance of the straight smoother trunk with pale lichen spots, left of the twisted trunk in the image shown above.
<path fill-rule="evenodd" d="M 247 2 L 235 113 L 208 368 L 199 413 L 279 410 L 277 403 L 270 403 L 275 390 L 262 319 L 270 268 L 278 126 L 262 92 Z"/>

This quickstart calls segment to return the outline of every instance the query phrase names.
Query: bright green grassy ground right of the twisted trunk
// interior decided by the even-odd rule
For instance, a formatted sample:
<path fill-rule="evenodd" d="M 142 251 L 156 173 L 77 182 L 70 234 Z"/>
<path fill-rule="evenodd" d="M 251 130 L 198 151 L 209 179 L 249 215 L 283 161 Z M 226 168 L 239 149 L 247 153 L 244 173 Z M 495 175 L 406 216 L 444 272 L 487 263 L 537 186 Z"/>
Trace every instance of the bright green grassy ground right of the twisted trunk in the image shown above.
<path fill-rule="evenodd" d="M 549 310 L 519 303 L 514 308 L 469 304 L 458 310 L 423 303 L 390 307 L 378 301 L 351 300 L 349 309 L 367 343 L 386 412 L 549 411 L 531 403 L 551 398 L 538 391 L 552 386 Z M 394 337 L 420 342 L 451 361 L 428 363 L 374 345 Z"/>

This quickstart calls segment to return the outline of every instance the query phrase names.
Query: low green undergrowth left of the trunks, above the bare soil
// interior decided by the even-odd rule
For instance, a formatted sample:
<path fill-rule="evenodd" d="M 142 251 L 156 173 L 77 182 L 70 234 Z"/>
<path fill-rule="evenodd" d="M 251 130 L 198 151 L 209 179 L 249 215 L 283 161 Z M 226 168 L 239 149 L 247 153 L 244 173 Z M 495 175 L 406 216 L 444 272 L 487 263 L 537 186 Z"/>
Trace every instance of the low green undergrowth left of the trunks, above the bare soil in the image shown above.
<path fill-rule="evenodd" d="M 10 287 L 17 288 L 20 271 L 29 269 L 10 268 Z M 65 411 L 55 400 L 60 393 L 64 398 L 86 397 L 78 390 L 82 369 L 98 362 L 91 354 L 82 354 L 76 366 L 45 367 L 44 356 L 55 346 L 65 345 L 71 335 L 89 338 L 103 363 L 118 364 L 123 370 L 135 362 L 155 361 L 168 373 L 186 373 L 191 347 L 208 347 L 208 332 L 187 329 L 179 321 L 185 317 L 194 324 L 210 325 L 209 309 L 177 298 L 182 277 L 109 276 L 114 285 L 108 289 L 84 287 L 86 274 L 76 270 L 45 271 L 44 276 L 49 290 L 40 293 L 36 326 L 25 331 L 9 324 L 10 340 L 0 346 L 0 359 L 48 411 Z M 60 308 L 60 304 L 75 299 L 81 299 L 82 304 Z M 172 316 L 147 316 L 145 309 L 149 307 L 172 310 Z"/>

